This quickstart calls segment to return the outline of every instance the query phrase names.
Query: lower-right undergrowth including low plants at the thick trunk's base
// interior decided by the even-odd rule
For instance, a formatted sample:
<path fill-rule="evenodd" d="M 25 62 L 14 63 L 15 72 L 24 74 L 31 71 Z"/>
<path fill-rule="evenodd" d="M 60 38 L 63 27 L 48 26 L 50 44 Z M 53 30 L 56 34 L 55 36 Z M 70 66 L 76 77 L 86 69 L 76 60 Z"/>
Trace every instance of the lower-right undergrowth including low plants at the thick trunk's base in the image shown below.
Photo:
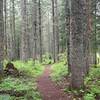
<path fill-rule="evenodd" d="M 65 88 L 66 93 L 72 93 L 82 100 L 100 100 L 100 65 L 92 66 L 89 75 L 84 80 L 85 89 L 74 90 Z"/>

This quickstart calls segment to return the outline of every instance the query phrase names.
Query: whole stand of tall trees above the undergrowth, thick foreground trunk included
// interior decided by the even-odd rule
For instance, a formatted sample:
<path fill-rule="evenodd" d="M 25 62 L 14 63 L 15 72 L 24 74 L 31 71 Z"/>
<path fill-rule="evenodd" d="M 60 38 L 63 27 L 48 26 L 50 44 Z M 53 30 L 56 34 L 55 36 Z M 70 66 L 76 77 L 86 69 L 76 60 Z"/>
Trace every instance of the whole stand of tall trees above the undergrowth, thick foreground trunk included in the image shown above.
<path fill-rule="evenodd" d="M 67 52 L 72 87 L 84 86 L 84 77 L 100 54 L 98 0 L 1 0 L 0 68 L 4 59 L 54 62 Z M 1 68 L 2 69 L 2 68 Z"/>

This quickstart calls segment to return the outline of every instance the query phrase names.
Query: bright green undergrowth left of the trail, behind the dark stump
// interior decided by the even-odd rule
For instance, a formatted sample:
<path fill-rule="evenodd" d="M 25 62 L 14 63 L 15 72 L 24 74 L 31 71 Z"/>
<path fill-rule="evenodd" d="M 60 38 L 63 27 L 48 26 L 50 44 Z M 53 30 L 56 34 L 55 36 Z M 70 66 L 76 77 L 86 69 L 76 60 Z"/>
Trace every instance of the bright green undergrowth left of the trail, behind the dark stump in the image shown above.
<path fill-rule="evenodd" d="M 6 66 L 8 62 L 5 61 L 4 66 Z M 32 76 L 32 77 L 37 77 L 40 75 L 43 70 L 44 66 L 39 63 L 39 61 L 35 61 L 35 64 L 32 60 L 29 60 L 27 62 L 22 62 L 22 61 L 14 61 L 12 62 L 14 66 L 19 70 L 19 72 L 25 73 L 26 76 Z"/>

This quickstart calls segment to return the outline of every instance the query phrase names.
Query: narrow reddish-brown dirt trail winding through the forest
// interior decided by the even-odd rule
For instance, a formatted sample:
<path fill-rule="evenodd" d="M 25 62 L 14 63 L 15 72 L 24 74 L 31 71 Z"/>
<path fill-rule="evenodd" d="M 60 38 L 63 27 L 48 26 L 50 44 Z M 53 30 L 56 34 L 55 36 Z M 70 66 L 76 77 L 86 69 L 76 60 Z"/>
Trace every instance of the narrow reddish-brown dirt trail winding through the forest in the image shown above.
<path fill-rule="evenodd" d="M 38 78 L 38 90 L 43 100 L 71 100 L 54 82 L 50 80 L 51 67 L 47 66 Z"/>

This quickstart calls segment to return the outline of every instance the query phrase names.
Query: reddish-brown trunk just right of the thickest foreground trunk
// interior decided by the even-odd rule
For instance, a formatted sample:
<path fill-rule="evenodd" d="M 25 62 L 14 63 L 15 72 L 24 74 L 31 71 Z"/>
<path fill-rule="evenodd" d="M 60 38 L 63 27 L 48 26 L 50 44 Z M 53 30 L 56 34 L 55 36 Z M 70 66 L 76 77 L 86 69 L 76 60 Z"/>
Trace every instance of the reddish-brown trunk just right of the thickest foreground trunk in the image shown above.
<path fill-rule="evenodd" d="M 83 46 L 84 46 L 84 73 L 85 75 L 89 72 L 90 66 L 90 33 L 92 32 L 92 18 L 91 18 L 91 2 L 86 1 L 86 18 L 84 19 L 84 36 L 83 36 Z"/>

